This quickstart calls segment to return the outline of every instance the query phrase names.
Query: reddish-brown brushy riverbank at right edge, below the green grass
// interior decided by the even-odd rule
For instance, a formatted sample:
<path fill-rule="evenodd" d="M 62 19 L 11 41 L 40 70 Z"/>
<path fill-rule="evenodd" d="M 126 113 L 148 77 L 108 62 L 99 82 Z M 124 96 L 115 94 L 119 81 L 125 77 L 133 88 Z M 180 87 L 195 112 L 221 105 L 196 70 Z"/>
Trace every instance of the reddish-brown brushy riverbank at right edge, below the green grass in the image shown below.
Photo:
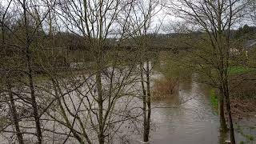
<path fill-rule="evenodd" d="M 231 75 L 230 102 L 234 118 L 256 118 L 255 71 L 243 71 Z"/>

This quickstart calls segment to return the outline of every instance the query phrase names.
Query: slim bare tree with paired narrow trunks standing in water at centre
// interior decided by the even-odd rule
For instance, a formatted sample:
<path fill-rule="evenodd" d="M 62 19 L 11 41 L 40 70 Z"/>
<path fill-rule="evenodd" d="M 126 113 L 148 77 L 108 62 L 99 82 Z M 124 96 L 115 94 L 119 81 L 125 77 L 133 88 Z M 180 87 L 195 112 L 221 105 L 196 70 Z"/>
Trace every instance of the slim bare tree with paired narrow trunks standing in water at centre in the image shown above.
<path fill-rule="evenodd" d="M 151 92 L 150 92 L 150 34 L 157 34 L 158 27 L 153 29 L 152 22 L 155 14 L 161 10 L 161 1 L 137 1 L 130 17 L 130 36 L 136 43 L 139 59 L 139 74 L 142 87 L 142 110 L 143 110 L 143 142 L 149 142 L 150 138 L 150 117 L 151 117 Z"/>

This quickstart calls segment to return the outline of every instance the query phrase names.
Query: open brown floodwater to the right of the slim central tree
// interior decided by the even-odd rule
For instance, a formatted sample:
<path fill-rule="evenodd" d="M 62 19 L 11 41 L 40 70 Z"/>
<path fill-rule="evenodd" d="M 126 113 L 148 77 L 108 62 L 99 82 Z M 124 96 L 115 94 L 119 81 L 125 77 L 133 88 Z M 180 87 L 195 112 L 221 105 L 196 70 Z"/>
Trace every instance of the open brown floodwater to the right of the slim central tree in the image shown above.
<path fill-rule="evenodd" d="M 210 103 L 210 88 L 194 79 L 192 76 L 180 82 L 177 93 L 153 102 L 151 144 L 222 144 L 229 139 L 229 134 L 218 130 L 218 114 Z M 237 143 L 256 143 L 246 138 L 246 135 L 256 136 L 253 122 L 235 123 Z M 238 127 L 242 134 L 238 133 Z"/>

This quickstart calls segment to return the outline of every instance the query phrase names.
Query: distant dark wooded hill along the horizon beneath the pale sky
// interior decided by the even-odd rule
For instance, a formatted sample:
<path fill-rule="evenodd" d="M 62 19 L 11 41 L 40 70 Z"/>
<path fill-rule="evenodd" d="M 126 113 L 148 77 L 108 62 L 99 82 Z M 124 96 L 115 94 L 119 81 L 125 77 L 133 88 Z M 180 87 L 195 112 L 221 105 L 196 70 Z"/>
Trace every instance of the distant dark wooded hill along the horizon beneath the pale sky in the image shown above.
<path fill-rule="evenodd" d="M 171 34 L 148 34 L 147 44 L 148 50 L 187 50 L 190 49 L 190 44 L 198 42 L 204 37 L 203 32 L 190 33 L 171 33 Z M 256 26 L 242 26 L 238 30 L 231 30 L 231 38 L 238 39 L 241 42 L 246 42 L 251 39 L 256 39 Z M 8 34 L 7 34 L 8 35 Z M 88 38 L 79 36 L 78 34 L 71 34 L 67 32 L 58 32 L 54 36 L 49 36 L 44 32 L 38 33 L 38 41 L 42 41 L 43 46 L 38 47 L 42 50 L 53 51 L 76 51 L 76 50 L 90 50 L 92 46 L 87 42 Z M 106 43 L 102 47 L 104 50 L 139 50 L 141 38 L 126 38 L 119 42 L 117 38 L 107 38 Z M 8 39 L 11 43 L 11 39 Z M 12 55 L 14 50 L 11 46 L 5 46 L 6 50 L 1 49 L 1 54 Z M 17 53 L 17 51 L 16 51 Z"/>

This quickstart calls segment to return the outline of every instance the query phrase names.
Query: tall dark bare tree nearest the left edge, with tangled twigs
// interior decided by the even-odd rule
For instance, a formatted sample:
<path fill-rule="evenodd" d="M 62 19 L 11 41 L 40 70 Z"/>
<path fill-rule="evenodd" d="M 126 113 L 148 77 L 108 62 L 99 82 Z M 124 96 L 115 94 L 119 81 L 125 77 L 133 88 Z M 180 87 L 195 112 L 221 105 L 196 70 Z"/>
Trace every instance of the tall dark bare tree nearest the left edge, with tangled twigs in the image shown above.
<path fill-rule="evenodd" d="M 20 126 L 18 122 L 22 121 L 22 114 L 20 114 L 20 111 L 18 112 L 16 110 L 15 103 L 19 103 L 19 106 L 32 107 L 32 118 L 34 118 L 34 128 L 36 130 L 35 135 L 38 138 L 38 143 L 42 143 L 42 128 L 37 102 L 38 97 L 36 94 L 36 86 L 34 86 L 34 74 L 38 71 L 34 68 L 34 49 L 39 46 L 38 33 L 39 31 L 42 32 L 42 22 L 46 18 L 48 12 L 47 10 L 44 10 L 42 14 L 40 14 L 42 17 L 40 17 L 37 7 L 41 7 L 40 4 L 42 3 L 37 4 L 38 5 L 33 2 L 27 2 L 26 0 L 10 1 L 8 8 L 11 7 L 16 10 L 17 14 L 14 15 L 14 18 L 16 18 L 17 22 L 12 22 L 10 25 L 6 25 L 4 18 L 2 18 L 3 21 L 1 22 L 2 30 L 9 36 L 8 41 L 5 42 L 5 46 L 8 46 L 9 49 L 9 54 L 7 54 L 9 55 L 9 58 L 6 58 L 6 60 L 14 62 L 14 65 L 8 63 L 6 66 L 3 66 L 2 71 L 6 71 L 6 86 L 7 92 L 10 95 L 10 110 L 14 118 L 18 142 L 20 143 L 24 143 L 22 133 L 30 133 L 27 131 L 25 132 L 24 130 L 19 130 Z M 2 39 L 4 40 L 5 38 L 2 37 Z M 24 90 L 22 91 L 29 90 L 29 92 L 25 92 L 25 98 L 22 96 L 22 92 L 17 91 L 18 85 L 23 85 L 22 88 Z M 12 90 L 13 87 L 14 90 Z M 14 98 L 14 95 L 17 98 Z M 30 95 L 30 98 L 27 97 L 28 95 Z M 22 127 L 24 128 L 24 126 Z M 7 130 L 8 126 L 6 126 L 5 129 Z M 3 129 L 3 131 L 6 131 L 5 129 Z"/>

